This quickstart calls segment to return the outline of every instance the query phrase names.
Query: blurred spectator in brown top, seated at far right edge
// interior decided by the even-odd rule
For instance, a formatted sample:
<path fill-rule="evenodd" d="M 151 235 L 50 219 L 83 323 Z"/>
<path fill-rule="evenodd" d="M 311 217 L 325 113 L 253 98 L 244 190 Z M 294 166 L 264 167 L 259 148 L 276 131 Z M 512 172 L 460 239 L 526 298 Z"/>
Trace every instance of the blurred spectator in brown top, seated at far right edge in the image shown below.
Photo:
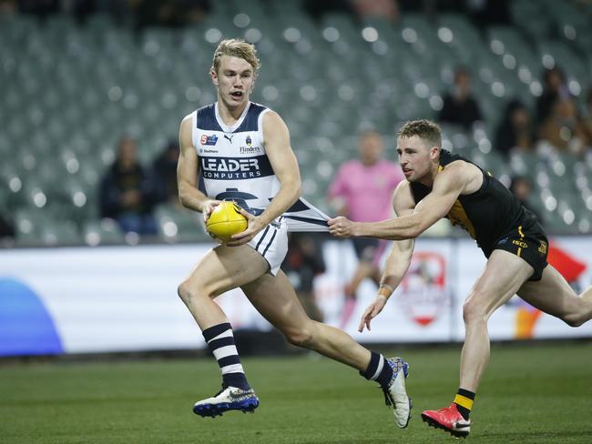
<path fill-rule="evenodd" d="M 583 121 L 577 115 L 576 101 L 571 97 L 558 98 L 551 114 L 538 128 L 539 151 L 557 150 L 581 155 L 587 139 Z"/>

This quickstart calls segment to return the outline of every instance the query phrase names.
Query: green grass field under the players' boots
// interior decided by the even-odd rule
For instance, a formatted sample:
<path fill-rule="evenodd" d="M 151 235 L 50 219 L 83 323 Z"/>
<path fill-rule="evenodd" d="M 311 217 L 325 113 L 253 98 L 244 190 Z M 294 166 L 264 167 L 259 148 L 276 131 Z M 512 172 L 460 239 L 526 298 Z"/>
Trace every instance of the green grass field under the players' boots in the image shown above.
<path fill-rule="evenodd" d="M 0 365 L 2 443 L 433 443 L 420 419 L 457 389 L 459 347 L 405 349 L 413 419 L 397 429 L 383 394 L 326 358 L 244 358 L 261 400 L 253 415 L 201 419 L 193 402 L 219 388 L 213 359 Z M 592 442 L 592 344 L 494 346 L 471 441 Z"/>

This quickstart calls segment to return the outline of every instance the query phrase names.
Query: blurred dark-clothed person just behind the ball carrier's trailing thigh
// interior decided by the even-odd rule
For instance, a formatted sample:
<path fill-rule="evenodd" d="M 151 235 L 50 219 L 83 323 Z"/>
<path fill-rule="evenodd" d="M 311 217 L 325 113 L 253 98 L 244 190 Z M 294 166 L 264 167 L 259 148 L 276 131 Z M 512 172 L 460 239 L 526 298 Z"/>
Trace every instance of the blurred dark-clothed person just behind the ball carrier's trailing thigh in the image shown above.
<path fill-rule="evenodd" d="M 290 233 L 288 254 L 281 269 L 286 273 L 309 318 L 322 322 L 313 288 L 314 277 L 325 272 L 320 240 L 314 233 Z"/>

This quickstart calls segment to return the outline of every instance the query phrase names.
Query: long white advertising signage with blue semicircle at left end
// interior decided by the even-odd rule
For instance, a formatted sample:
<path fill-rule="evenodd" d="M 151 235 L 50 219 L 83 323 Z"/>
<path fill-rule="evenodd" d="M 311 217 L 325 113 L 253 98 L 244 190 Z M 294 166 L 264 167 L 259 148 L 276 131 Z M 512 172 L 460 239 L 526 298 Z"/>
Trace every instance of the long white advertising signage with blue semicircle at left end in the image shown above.
<path fill-rule="evenodd" d="M 552 239 L 592 285 L 592 237 Z M 203 348 L 179 283 L 209 245 L 7 249 L 0 254 L 0 356 Z M 388 248 L 387 248 L 388 251 Z M 346 309 L 343 287 L 356 267 L 348 241 L 323 246 L 327 270 L 315 279 L 325 321 L 361 342 L 447 342 L 464 338 L 462 307 L 485 257 L 470 239 L 420 238 L 407 275 L 372 331 L 357 331 L 376 287 L 365 281 Z M 557 259 L 558 260 L 558 259 Z M 217 299 L 236 329 L 269 330 L 240 290 Z M 592 337 L 592 322 L 569 328 L 519 298 L 489 322 L 494 340 Z"/>

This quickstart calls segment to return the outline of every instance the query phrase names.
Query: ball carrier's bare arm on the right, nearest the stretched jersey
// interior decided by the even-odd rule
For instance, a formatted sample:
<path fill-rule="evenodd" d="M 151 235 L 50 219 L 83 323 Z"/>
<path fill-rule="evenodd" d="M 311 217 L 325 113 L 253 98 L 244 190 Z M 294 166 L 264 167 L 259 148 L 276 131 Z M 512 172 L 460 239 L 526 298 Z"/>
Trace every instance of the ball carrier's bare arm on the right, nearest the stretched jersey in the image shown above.
<path fill-rule="evenodd" d="M 263 140 L 273 173 L 280 181 L 280 190 L 258 217 L 243 212 L 249 218 L 249 227 L 242 233 L 234 235 L 232 238 L 235 240 L 228 243 L 230 246 L 249 242 L 272 220 L 285 213 L 301 194 L 300 170 L 296 156 L 291 150 L 288 126 L 278 114 L 272 111 L 263 116 Z"/>

